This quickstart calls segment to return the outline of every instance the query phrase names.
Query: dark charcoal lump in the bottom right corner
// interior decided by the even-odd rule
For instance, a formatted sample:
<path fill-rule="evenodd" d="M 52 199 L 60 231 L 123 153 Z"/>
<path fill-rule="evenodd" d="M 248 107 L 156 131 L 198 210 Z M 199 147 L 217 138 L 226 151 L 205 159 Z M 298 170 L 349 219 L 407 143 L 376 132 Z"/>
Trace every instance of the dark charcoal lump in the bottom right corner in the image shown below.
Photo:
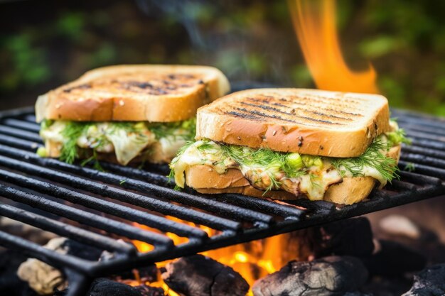
<path fill-rule="evenodd" d="M 445 295 L 445 264 L 431 266 L 414 275 L 411 290 L 402 296 Z"/>

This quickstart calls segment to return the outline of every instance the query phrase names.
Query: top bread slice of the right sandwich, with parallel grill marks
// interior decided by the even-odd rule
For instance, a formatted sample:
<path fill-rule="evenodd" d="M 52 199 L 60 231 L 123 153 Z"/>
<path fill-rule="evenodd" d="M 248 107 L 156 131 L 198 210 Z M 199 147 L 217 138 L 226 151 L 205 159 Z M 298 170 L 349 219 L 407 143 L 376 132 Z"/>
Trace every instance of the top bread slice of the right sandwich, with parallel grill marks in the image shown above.
<path fill-rule="evenodd" d="M 248 89 L 198 109 L 196 139 L 356 157 L 390 130 L 385 97 L 315 89 Z"/>

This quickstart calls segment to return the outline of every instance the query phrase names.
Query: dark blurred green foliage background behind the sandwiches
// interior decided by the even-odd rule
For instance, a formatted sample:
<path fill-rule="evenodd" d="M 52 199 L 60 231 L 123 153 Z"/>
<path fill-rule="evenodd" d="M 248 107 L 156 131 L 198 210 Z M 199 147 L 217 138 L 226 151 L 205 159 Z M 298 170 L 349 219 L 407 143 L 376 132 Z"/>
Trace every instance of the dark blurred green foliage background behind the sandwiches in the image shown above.
<path fill-rule="evenodd" d="M 0 4 L 0 17 L 30 2 Z M 232 81 L 313 87 L 284 0 L 146 0 L 146 13 L 133 1 L 79 2 L 58 2 L 39 21 L 9 16 L 14 26 L 0 35 L 1 97 L 32 104 L 86 70 L 118 63 L 207 64 Z M 392 106 L 445 116 L 445 1 L 338 0 L 337 15 L 349 65 L 371 62 Z"/>

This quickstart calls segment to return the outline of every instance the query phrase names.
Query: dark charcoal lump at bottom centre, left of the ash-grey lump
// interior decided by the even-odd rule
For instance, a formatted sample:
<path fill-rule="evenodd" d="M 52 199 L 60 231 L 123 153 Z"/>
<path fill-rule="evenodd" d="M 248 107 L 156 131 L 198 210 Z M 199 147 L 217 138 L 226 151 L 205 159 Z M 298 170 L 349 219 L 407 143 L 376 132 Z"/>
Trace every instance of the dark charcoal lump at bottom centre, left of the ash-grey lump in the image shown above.
<path fill-rule="evenodd" d="M 232 268 L 202 255 L 168 263 L 162 279 L 185 296 L 245 296 L 249 284 Z"/>

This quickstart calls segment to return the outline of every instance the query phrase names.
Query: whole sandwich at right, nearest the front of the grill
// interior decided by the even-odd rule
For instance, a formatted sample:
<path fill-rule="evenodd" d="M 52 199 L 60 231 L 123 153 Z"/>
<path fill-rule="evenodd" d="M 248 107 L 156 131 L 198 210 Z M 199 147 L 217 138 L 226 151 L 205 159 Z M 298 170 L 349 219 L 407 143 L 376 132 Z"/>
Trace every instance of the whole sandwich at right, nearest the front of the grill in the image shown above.
<path fill-rule="evenodd" d="M 178 187 L 351 204 L 397 177 L 404 132 L 385 97 L 250 89 L 198 109 L 171 163 Z"/>

